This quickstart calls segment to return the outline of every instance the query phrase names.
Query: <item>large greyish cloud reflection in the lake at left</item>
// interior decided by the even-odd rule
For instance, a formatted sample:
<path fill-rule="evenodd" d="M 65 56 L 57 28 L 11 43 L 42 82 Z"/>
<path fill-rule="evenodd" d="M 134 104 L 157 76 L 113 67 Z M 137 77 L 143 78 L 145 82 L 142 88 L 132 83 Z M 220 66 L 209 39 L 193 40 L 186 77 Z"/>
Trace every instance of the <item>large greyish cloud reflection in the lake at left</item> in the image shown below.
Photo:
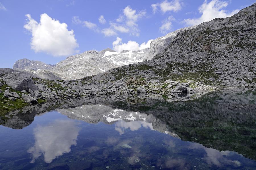
<path fill-rule="evenodd" d="M 35 145 L 28 149 L 33 155 L 31 163 L 43 153 L 44 161 L 51 163 L 57 156 L 70 151 L 71 145 L 77 144 L 80 128 L 71 120 L 55 120 L 47 126 L 34 128 Z"/>

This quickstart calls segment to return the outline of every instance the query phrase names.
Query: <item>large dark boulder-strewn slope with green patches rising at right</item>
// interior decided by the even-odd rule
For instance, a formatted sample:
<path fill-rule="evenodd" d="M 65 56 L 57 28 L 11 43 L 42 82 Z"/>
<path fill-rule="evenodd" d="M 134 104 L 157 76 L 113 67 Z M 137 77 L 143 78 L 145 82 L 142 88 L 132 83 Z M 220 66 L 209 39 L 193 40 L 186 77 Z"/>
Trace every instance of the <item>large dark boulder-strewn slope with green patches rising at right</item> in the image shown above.
<path fill-rule="evenodd" d="M 115 77 L 119 83 L 130 82 L 135 87 L 144 84 L 149 91 L 152 81 L 164 83 L 168 79 L 213 87 L 255 87 L 255 43 L 256 3 L 229 18 L 179 31 L 152 60 L 122 66 L 92 80 Z M 140 83 L 138 78 L 146 81 Z"/>

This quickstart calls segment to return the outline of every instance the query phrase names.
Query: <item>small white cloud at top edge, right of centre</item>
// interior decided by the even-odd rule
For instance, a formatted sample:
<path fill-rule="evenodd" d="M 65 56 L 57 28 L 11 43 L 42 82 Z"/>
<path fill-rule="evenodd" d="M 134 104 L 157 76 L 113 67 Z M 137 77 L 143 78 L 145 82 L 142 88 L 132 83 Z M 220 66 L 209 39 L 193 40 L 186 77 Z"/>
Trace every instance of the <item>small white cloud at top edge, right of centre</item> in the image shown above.
<path fill-rule="evenodd" d="M 167 0 L 165 0 L 165 1 L 162 1 L 161 3 L 152 4 L 151 8 L 153 10 L 153 13 L 156 13 L 156 11 L 158 10 L 158 7 L 163 13 L 168 11 L 177 12 L 178 10 L 181 10 L 181 3 L 179 2 L 179 0 L 173 0 L 171 2 L 168 2 Z"/>

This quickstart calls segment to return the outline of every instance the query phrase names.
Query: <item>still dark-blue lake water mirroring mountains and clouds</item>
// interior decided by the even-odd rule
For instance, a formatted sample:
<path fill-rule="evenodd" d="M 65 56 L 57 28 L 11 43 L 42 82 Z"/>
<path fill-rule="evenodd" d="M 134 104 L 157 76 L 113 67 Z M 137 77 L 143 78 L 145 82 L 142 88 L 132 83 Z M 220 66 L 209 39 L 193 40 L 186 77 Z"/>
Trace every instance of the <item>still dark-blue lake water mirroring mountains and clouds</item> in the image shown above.
<path fill-rule="evenodd" d="M 90 100 L 13 116 L 0 126 L 0 169 L 256 169 L 255 98 Z"/>

